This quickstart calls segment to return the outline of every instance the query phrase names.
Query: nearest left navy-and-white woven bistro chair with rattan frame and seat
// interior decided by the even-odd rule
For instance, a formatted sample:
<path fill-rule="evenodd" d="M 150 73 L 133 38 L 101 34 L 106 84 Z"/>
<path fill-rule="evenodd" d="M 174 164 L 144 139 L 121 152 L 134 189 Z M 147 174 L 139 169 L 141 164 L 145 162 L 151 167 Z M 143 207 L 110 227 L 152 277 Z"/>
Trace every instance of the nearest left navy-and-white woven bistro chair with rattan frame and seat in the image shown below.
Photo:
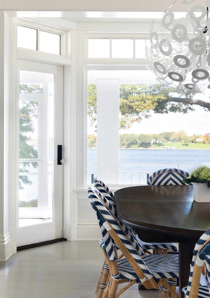
<path fill-rule="evenodd" d="M 159 289 L 164 292 L 165 298 L 178 298 L 176 278 L 179 277 L 179 256 L 145 255 L 143 250 L 138 251 L 135 240 L 129 239 L 128 230 L 122 229 L 97 192 L 89 187 L 88 194 L 97 214 L 104 240 L 103 252 L 111 273 L 110 287 L 107 285 L 103 298 L 118 298 L 135 283 L 143 284 L 148 289 Z M 118 260 L 114 244 L 117 244 L 125 258 Z M 119 283 L 129 284 L 116 294 Z"/>

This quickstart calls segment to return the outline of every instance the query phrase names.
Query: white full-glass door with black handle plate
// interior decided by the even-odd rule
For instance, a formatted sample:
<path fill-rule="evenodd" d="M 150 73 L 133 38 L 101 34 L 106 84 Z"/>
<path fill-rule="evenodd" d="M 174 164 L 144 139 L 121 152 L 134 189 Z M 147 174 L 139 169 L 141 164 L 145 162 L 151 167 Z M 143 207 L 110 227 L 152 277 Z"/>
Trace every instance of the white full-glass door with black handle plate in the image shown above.
<path fill-rule="evenodd" d="M 63 235 L 63 165 L 57 160 L 63 67 L 18 60 L 17 93 L 17 246 L 23 246 Z"/>

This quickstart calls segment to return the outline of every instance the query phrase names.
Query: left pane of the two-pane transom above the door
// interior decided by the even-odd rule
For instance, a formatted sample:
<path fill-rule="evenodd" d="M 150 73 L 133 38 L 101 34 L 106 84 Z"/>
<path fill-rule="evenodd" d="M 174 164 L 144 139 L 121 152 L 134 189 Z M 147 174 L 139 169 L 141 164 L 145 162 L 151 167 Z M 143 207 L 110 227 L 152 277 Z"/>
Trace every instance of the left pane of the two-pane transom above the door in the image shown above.
<path fill-rule="evenodd" d="M 17 46 L 37 50 L 37 30 L 18 25 Z"/>

